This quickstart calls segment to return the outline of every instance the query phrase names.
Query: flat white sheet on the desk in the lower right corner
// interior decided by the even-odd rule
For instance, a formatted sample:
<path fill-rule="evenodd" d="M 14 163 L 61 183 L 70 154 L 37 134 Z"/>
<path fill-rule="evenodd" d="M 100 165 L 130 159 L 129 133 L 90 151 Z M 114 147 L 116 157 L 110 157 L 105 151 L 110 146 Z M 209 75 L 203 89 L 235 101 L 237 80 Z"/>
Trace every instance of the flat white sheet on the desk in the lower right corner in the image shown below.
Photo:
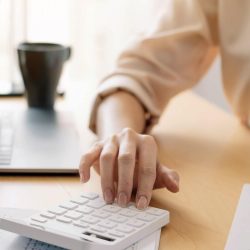
<path fill-rule="evenodd" d="M 250 249 L 250 184 L 243 186 L 225 250 Z"/>

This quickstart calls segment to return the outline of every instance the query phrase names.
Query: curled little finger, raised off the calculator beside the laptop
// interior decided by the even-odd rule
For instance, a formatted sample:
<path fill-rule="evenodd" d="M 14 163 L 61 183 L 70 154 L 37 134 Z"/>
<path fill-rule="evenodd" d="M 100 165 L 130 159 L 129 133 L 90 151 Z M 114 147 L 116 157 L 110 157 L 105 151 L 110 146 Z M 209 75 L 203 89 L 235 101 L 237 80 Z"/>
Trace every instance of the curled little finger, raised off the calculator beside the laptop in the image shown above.
<path fill-rule="evenodd" d="M 94 144 L 81 158 L 79 166 L 79 174 L 81 182 L 85 183 L 90 178 L 90 168 L 93 163 L 98 160 L 102 151 L 102 143 Z"/>

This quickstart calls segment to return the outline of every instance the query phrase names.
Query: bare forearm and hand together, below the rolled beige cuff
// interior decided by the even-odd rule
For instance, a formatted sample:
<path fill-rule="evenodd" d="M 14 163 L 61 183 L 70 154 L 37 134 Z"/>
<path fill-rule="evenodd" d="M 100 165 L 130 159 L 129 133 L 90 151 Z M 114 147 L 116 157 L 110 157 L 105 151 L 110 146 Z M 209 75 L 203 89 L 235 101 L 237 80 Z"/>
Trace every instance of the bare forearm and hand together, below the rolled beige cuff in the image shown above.
<path fill-rule="evenodd" d="M 157 163 L 157 145 L 152 136 L 142 134 L 144 128 L 144 108 L 128 92 L 111 94 L 98 108 L 100 141 L 83 156 L 80 175 L 83 182 L 88 181 L 94 165 L 108 203 L 117 197 L 118 204 L 126 206 L 135 188 L 137 207 L 144 209 L 154 187 L 166 187 L 172 192 L 179 189 L 178 174 Z"/>

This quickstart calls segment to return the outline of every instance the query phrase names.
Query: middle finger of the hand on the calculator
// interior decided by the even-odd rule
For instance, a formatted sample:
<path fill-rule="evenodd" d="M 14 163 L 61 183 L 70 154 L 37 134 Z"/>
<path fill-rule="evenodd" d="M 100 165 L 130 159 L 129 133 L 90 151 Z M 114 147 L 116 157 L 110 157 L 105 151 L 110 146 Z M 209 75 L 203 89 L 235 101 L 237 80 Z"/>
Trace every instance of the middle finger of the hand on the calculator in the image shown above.
<path fill-rule="evenodd" d="M 136 133 L 131 129 L 123 130 L 120 137 L 117 201 L 122 207 L 130 201 L 133 189 L 136 137 Z"/>

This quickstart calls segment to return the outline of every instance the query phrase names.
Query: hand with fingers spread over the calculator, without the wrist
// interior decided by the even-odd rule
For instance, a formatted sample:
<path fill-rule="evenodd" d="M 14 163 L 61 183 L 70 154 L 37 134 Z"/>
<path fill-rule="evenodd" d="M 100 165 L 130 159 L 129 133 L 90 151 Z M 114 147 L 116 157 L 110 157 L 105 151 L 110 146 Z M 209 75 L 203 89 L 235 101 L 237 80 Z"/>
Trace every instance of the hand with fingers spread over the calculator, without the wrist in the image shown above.
<path fill-rule="evenodd" d="M 154 188 L 179 191 L 179 175 L 157 161 L 157 144 L 153 136 L 123 129 L 106 140 L 95 143 L 81 159 L 79 173 L 82 182 L 90 178 L 94 166 L 101 176 L 104 200 L 125 207 L 136 190 L 139 209 L 148 206 Z"/>

